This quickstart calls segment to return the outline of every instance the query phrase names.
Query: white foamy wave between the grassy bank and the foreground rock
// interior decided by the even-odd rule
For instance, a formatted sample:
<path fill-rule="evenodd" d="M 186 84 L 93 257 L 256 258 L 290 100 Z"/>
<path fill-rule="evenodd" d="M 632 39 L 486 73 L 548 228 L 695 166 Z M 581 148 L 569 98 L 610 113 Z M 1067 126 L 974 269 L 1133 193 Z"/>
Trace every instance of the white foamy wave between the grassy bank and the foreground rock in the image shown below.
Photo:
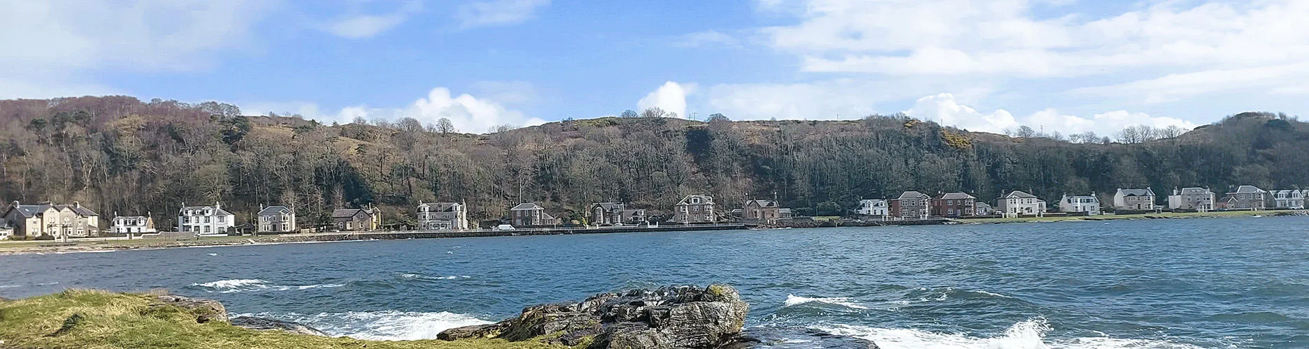
<path fill-rule="evenodd" d="M 351 311 L 351 312 L 319 312 L 319 314 L 233 314 L 232 316 L 258 316 L 287 322 L 297 322 L 318 328 L 327 335 L 346 336 L 360 340 L 431 340 L 436 339 L 441 331 L 490 324 L 491 322 L 478 319 L 473 315 L 441 312 L 414 312 L 414 311 Z"/>

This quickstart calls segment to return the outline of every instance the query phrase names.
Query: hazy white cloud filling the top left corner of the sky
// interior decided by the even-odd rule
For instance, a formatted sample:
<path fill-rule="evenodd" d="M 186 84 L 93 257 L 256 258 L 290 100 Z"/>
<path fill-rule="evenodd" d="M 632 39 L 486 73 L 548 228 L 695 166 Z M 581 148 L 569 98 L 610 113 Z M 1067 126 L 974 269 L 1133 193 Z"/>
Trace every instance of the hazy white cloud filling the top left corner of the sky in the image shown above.
<path fill-rule="evenodd" d="M 0 1 L 0 93 L 120 93 L 90 72 L 196 71 L 250 42 L 276 1 Z"/>

